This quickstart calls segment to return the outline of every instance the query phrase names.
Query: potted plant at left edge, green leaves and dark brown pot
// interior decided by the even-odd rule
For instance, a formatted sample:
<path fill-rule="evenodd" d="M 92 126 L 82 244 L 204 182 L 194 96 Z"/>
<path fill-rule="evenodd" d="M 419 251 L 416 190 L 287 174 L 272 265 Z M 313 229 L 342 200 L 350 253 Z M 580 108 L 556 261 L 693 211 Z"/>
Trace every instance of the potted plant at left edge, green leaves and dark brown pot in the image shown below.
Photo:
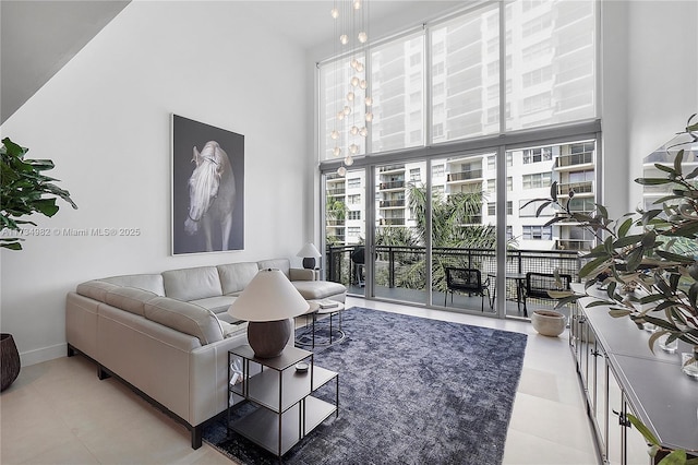
<path fill-rule="evenodd" d="M 9 138 L 0 146 L 0 247 L 22 250 L 23 238 L 19 237 L 22 226 L 36 224 L 22 219 L 26 215 L 40 213 L 53 216 L 58 212 L 56 199 L 61 198 L 71 204 L 67 190 L 60 189 L 43 174 L 53 168 L 50 159 L 26 159 L 28 148 L 21 147 Z M 8 233 L 9 231 L 9 233 Z M 14 231 L 14 233 L 13 233 Z M 4 391 L 20 374 L 20 354 L 11 334 L 0 333 L 0 391 Z"/>

